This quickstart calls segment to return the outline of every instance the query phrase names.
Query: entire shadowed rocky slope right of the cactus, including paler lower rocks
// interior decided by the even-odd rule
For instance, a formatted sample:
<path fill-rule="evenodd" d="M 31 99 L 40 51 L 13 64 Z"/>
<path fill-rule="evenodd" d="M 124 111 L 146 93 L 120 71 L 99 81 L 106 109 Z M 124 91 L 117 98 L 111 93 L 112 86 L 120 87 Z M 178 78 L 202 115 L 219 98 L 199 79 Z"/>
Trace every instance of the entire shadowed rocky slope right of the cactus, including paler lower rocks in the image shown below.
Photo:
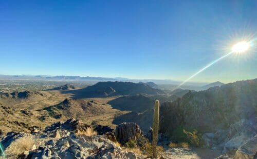
<path fill-rule="evenodd" d="M 234 154 L 257 134 L 256 103 L 257 79 L 189 92 L 161 105 L 160 132 L 172 136 L 179 126 L 191 127 L 207 147 Z"/>

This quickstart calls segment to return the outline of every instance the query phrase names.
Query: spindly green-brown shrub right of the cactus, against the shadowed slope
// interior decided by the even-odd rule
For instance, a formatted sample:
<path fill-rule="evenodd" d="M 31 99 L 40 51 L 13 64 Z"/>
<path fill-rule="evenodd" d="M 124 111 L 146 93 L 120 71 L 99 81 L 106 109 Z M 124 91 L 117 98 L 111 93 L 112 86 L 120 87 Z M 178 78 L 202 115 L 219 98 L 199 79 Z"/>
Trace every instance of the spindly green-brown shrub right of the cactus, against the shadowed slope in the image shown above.
<path fill-rule="evenodd" d="M 178 127 L 174 130 L 172 138 L 179 143 L 188 143 L 191 146 L 200 146 L 201 144 L 201 135 L 197 130 L 186 127 Z"/>

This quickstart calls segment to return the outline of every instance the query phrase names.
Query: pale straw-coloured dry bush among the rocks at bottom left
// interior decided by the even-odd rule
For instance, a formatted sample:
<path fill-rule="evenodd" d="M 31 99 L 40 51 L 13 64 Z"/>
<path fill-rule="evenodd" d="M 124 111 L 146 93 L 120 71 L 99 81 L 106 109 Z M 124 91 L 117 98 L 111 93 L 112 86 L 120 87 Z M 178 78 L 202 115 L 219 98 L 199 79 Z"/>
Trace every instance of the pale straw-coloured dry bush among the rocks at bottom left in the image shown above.
<path fill-rule="evenodd" d="M 28 151 L 34 145 L 35 140 L 31 136 L 24 136 L 18 138 L 6 150 L 7 154 L 21 154 L 24 151 Z"/>

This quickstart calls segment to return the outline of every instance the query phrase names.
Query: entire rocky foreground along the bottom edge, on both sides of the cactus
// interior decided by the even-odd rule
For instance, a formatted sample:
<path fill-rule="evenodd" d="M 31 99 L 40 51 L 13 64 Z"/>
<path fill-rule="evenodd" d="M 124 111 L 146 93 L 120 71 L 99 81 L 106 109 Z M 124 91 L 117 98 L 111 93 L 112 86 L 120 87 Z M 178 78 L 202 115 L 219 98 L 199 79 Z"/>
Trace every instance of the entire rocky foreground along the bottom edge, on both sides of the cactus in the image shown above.
<path fill-rule="evenodd" d="M 130 140 L 143 147 L 148 142 L 145 136 L 149 137 L 149 134 L 143 135 L 135 123 L 120 124 L 114 131 L 108 126 L 93 129 L 74 118 L 65 123 L 54 123 L 45 130 L 34 127 L 31 133 L 0 133 L 5 150 L 2 156 L 6 158 L 148 158 L 149 152 L 123 147 Z M 188 148 L 169 148 L 167 138 L 162 135 L 159 138 L 159 145 L 166 148 L 159 152 L 160 158 L 212 158 L 216 155 L 210 149 L 203 153 Z M 256 143 L 257 135 L 234 156 L 224 154 L 218 158 L 256 158 Z"/>

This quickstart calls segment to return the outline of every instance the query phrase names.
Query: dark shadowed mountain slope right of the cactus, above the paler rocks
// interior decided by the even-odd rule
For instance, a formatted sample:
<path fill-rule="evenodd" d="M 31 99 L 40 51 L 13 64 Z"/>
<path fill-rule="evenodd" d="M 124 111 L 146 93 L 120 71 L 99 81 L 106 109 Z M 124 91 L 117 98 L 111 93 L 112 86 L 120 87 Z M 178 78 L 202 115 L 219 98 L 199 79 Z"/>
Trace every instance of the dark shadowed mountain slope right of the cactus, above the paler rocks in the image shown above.
<path fill-rule="evenodd" d="M 241 119 L 256 116 L 256 103 L 257 79 L 189 92 L 161 105 L 160 131 L 172 133 L 181 125 L 200 132 L 226 129 Z"/>

